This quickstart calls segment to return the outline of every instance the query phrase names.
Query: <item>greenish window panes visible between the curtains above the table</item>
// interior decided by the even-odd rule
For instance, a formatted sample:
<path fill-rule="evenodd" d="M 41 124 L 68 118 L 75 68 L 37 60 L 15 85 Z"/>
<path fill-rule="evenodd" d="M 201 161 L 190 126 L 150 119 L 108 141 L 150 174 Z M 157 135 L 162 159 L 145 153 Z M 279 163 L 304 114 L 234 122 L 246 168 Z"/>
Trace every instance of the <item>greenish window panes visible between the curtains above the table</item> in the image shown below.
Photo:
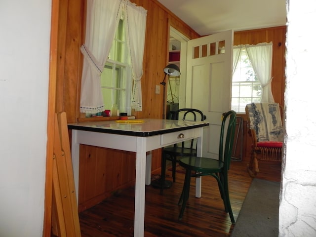
<path fill-rule="evenodd" d="M 124 20 L 120 19 L 108 60 L 101 74 L 105 109 L 112 110 L 113 105 L 116 105 L 119 112 L 130 114 L 131 86 L 131 60 L 127 50 Z"/>

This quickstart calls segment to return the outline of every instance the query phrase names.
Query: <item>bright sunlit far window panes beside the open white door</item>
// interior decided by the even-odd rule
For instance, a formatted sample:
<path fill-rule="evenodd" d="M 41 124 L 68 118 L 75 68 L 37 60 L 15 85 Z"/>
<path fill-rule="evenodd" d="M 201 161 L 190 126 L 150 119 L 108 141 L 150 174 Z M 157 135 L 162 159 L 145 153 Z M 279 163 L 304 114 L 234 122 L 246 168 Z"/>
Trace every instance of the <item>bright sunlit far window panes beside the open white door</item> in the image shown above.
<path fill-rule="evenodd" d="M 245 113 L 245 107 L 260 102 L 262 87 L 252 68 L 245 48 L 241 49 L 232 82 L 232 110 Z"/>

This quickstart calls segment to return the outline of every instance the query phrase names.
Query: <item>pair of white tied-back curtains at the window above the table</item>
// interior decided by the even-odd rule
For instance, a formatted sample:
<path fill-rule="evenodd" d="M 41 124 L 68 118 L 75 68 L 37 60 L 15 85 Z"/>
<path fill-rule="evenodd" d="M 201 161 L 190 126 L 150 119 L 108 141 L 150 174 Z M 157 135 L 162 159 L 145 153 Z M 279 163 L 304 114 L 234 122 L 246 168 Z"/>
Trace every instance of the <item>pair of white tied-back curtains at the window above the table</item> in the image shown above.
<path fill-rule="evenodd" d="M 96 114 L 104 111 L 100 75 L 109 56 L 121 11 L 127 15 L 127 41 L 131 54 L 133 93 L 132 105 L 142 110 L 140 79 L 143 75 L 143 55 L 147 10 L 129 0 L 87 0 L 85 43 L 80 47 L 83 57 L 80 112 Z"/>

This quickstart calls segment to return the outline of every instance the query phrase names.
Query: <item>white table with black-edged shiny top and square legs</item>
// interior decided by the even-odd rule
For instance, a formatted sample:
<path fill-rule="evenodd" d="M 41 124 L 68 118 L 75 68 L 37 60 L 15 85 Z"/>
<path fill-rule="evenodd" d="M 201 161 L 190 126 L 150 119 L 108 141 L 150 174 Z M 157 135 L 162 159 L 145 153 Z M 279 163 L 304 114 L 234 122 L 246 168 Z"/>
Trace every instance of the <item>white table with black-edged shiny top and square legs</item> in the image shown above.
<path fill-rule="evenodd" d="M 79 145 L 131 151 L 136 153 L 134 236 L 144 236 L 145 185 L 151 184 L 151 151 L 197 138 L 197 156 L 202 155 L 203 128 L 208 122 L 169 119 L 134 121 L 93 121 L 69 123 L 72 129 L 72 162 L 78 201 Z M 201 180 L 196 180 L 196 197 L 200 197 Z"/>

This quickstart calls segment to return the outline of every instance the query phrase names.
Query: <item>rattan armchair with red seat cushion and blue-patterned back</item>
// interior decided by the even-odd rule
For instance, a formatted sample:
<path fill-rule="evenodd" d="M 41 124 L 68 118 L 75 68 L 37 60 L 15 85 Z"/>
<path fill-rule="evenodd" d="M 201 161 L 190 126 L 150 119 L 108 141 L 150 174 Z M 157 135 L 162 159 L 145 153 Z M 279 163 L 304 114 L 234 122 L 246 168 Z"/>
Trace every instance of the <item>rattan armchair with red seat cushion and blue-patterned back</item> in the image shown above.
<path fill-rule="evenodd" d="M 282 108 L 278 103 L 251 103 L 246 105 L 247 126 L 252 138 L 248 165 L 250 176 L 259 172 L 260 160 L 282 160 Z"/>

